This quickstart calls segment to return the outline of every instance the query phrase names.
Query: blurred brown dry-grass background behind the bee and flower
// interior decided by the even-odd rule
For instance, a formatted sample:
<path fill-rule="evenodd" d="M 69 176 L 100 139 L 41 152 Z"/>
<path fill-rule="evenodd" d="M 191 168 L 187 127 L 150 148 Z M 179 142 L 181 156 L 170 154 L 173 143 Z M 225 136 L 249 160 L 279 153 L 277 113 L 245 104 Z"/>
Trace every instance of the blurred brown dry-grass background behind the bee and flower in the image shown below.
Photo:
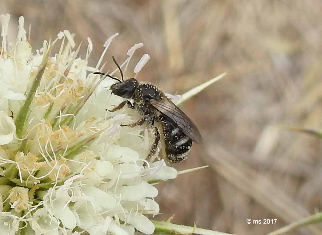
<path fill-rule="evenodd" d="M 90 37 L 92 65 L 115 32 L 119 36 L 104 58 L 109 63 L 111 55 L 122 61 L 128 48 L 144 43 L 127 76 L 148 53 L 138 79 L 168 93 L 228 73 L 182 106 L 204 144 L 194 144 L 176 168 L 210 168 L 159 184 L 162 214 L 156 219 L 175 214 L 174 223 L 195 221 L 202 228 L 257 235 L 321 210 L 321 140 L 281 128 L 321 129 L 320 0 L 2 1 L 0 6 L 13 26 L 24 15 L 33 48 L 69 29 L 76 43 L 83 41 L 85 56 Z M 321 228 L 289 234 L 322 234 Z"/>

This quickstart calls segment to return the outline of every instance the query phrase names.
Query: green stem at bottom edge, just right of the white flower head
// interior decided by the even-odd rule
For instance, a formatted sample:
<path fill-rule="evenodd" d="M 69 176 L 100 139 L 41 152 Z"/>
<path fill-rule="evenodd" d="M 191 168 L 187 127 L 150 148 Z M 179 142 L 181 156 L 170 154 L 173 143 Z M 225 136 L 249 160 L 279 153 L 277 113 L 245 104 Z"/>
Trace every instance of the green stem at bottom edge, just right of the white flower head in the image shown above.
<path fill-rule="evenodd" d="M 154 233 L 170 234 L 170 235 L 187 235 L 187 234 L 202 234 L 202 235 L 231 235 L 223 232 L 216 232 L 207 229 L 199 229 L 197 227 L 189 227 L 185 225 L 173 224 L 170 222 L 151 220 L 155 226 Z"/>

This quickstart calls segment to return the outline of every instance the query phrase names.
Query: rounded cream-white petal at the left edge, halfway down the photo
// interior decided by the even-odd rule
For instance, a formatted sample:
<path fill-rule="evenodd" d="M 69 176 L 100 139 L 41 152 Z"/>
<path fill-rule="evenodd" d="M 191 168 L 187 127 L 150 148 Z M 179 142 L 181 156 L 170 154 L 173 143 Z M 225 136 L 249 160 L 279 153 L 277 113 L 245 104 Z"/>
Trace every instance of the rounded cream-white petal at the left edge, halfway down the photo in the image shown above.
<path fill-rule="evenodd" d="M 10 143 L 14 138 L 16 126 L 5 112 L 0 111 L 0 145 Z"/>

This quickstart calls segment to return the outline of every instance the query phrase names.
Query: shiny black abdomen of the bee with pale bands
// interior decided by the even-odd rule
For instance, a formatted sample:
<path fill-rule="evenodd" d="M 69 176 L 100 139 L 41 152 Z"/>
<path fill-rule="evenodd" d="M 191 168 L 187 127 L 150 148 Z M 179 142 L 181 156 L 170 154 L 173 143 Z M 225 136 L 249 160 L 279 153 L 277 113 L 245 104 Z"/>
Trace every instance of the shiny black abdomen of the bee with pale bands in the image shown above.
<path fill-rule="evenodd" d="M 192 146 L 192 139 L 187 137 L 180 128 L 168 120 L 163 120 L 163 132 L 168 160 L 171 163 L 184 160 Z"/>

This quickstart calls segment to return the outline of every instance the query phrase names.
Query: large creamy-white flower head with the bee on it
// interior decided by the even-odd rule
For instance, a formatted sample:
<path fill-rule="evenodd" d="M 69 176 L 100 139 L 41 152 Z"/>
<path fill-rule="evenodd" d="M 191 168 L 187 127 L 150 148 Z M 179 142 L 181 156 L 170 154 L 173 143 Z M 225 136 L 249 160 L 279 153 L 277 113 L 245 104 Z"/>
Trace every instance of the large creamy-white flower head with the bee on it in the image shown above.
<path fill-rule="evenodd" d="M 106 88 L 114 80 L 93 72 L 103 70 L 103 56 L 118 34 L 90 66 L 90 38 L 85 59 L 68 30 L 34 50 L 23 17 L 16 42 L 8 43 L 9 19 L 0 16 L 0 172 L 10 182 L 1 191 L 0 233 L 152 234 L 155 227 L 147 216 L 158 214 L 159 206 L 158 190 L 149 180 L 173 179 L 177 172 L 164 161 L 144 167 L 149 133 L 120 126 L 138 114 L 127 108 L 107 111 L 122 98 Z M 59 51 L 52 52 L 58 43 Z M 142 46 L 128 50 L 124 73 Z M 143 55 L 134 73 L 148 59 Z"/>

